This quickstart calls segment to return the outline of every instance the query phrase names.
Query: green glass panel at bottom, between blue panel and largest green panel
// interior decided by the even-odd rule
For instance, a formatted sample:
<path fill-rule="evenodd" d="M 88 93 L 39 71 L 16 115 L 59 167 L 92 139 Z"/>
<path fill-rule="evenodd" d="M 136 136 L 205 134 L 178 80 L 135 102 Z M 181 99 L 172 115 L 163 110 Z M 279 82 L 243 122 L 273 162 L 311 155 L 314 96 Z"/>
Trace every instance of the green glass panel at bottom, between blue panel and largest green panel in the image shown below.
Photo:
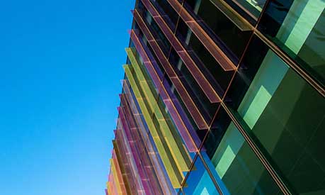
<path fill-rule="evenodd" d="M 223 194 L 277 194 L 278 186 L 220 108 L 203 144 L 203 159 Z"/>

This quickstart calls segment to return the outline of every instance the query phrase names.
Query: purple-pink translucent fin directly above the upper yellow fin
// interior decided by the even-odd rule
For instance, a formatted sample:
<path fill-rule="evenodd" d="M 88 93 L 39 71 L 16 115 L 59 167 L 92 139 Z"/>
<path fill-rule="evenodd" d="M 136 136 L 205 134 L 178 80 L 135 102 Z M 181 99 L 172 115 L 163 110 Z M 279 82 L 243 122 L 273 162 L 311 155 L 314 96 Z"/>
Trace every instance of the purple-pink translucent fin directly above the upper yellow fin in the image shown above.
<path fill-rule="evenodd" d="M 186 128 L 185 124 L 183 123 L 183 121 L 188 120 L 188 118 L 187 118 L 187 116 L 183 116 L 181 118 L 180 114 L 176 110 L 176 107 L 173 106 L 174 101 L 177 101 L 177 100 L 173 99 L 173 101 L 171 101 L 171 99 L 169 97 L 169 93 L 167 93 L 167 90 L 170 90 L 170 89 L 166 89 L 164 87 L 164 85 L 159 81 L 158 75 L 154 71 L 154 65 L 153 65 L 152 61 L 149 59 L 149 55 L 148 55 L 149 50 L 144 49 L 144 46 L 140 42 L 139 37 L 136 35 L 134 30 L 130 31 L 130 37 L 131 37 L 132 42 L 135 45 L 137 52 L 144 60 L 144 66 L 147 68 L 147 71 L 148 71 L 150 77 L 152 78 L 156 88 L 160 88 L 159 94 L 161 95 L 161 98 L 163 99 L 164 102 L 167 101 L 167 102 L 165 102 L 165 105 L 168 108 L 169 113 L 171 114 L 171 118 L 173 119 L 173 121 L 176 125 L 176 128 L 178 129 L 178 132 L 181 134 L 181 137 L 183 138 L 183 141 L 186 144 L 186 147 L 188 148 L 189 152 L 197 152 L 198 148 L 196 147 L 196 145 L 192 139 L 192 136 L 190 136 L 188 129 Z M 194 136 L 195 135 L 196 135 L 196 133 L 194 134 Z"/>

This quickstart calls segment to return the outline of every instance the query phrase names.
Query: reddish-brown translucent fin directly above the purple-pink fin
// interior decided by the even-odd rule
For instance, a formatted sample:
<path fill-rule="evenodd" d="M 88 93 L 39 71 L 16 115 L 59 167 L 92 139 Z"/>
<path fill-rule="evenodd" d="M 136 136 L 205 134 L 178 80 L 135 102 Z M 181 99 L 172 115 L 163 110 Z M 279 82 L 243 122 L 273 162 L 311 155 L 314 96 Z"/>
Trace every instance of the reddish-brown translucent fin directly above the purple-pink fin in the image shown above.
<path fill-rule="evenodd" d="M 154 40 L 152 33 L 150 33 L 147 26 L 144 24 L 144 21 L 139 16 L 139 13 L 137 11 L 132 11 L 135 17 L 135 21 L 137 21 L 137 24 L 139 28 L 142 30 L 142 33 L 147 37 L 149 41 L 149 45 L 152 47 L 152 50 L 154 50 L 154 53 L 156 57 L 159 59 L 159 62 L 164 67 L 166 74 L 169 76 L 169 78 L 173 77 L 175 80 L 178 80 L 177 82 L 173 82 L 176 90 L 178 91 L 178 94 L 180 94 L 181 99 L 183 100 L 184 104 L 186 105 L 186 108 L 188 108 L 188 112 L 192 116 L 193 120 L 195 121 L 196 125 L 199 129 L 207 129 L 207 123 L 203 116 L 201 115 L 198 108 L 195 106 L 193 100 L 190 98 L 190 95 L 188 94 L 188 91 L 184 89 L 183 84 L 181 81 L 177 78 L 176 72 L 173 70 L 171 65 L 169 64 L 169 61 L 166 59 L 164 52 L 162 52 L 161 48 L 159 48 L 158 43 Z"/>

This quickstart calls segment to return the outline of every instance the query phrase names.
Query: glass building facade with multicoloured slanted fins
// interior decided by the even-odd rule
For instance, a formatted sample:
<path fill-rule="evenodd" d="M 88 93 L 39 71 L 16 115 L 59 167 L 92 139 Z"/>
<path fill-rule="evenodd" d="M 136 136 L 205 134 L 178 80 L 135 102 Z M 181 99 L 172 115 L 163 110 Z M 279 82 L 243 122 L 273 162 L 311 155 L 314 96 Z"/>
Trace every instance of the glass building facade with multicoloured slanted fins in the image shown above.
<path fill-rule="evenodd" d="M 107 194 L 325 194 L 325 1 L 137 0 Z"/>

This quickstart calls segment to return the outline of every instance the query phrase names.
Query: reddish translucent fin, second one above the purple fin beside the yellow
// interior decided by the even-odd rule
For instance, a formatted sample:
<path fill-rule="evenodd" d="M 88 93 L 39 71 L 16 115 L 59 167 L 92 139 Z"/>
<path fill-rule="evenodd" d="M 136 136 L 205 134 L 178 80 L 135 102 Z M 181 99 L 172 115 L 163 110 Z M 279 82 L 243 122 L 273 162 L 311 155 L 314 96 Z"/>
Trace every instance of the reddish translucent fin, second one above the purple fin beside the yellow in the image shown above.
<path fill-rule="evenodd" d="M 166 35 L 166 38 L 169 40 L 171 45 L 173 46 L 174 50 L 178 53 L 179 57 L 181 57 L 181 60 L 184 62 L 184 65 L 188 67 L 188 70 L 192 74 L 195 81 L 198 83 L 198 85 L 201 87 L 207 98 L 210 100 L 211 103 L 217 103 L 220 101 L 219 96 L 217 96 L 217 92 L 215 89 L 211 86 L 211 84 L 207 81 L 204 74 L 200 71 L 200 69 L 195 65 L 195 62 L 193 59 L 188 55 L 188 52 L 185 48 L 183 48 L 183 45 L 181 45 L 180 41 L 176 38 L 176 36 L 173 34 L 169 26 L 164 21 L 164 18 L 162 18 L 158 11 L 154 8 L 152 3 L 149 0 L 142 0 L 142 3 L 147 8 L 149 13 L 154 18 L 154 21 L 158 24 L 161 31 Z M 154 10 L 154 11 L 153 11 Z"/>

